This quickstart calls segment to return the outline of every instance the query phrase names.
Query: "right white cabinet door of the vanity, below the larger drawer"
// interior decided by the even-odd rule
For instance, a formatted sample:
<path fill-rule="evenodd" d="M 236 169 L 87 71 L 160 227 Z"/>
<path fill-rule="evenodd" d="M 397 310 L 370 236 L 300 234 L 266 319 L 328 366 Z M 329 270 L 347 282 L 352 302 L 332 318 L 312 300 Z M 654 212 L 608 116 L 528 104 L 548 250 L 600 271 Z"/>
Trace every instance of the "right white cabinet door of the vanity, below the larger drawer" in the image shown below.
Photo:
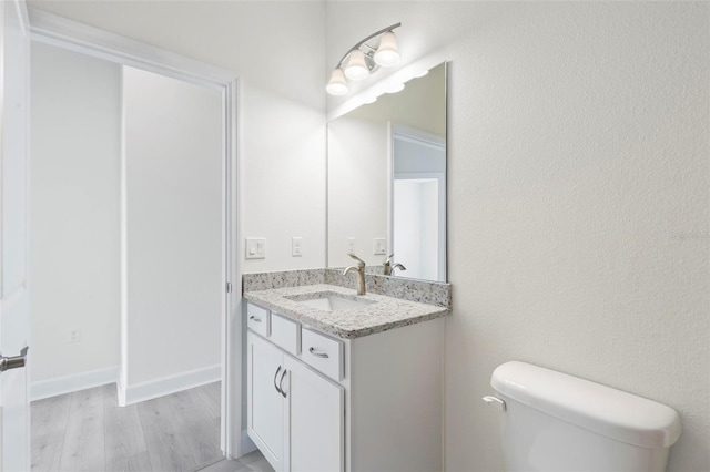
<path fill-rule="evenodd" d="M 345 396 L 341 386 L 285 356 L 288 370 L 284 390 L 288 399 L 290 470 L 344 470 Z"/>

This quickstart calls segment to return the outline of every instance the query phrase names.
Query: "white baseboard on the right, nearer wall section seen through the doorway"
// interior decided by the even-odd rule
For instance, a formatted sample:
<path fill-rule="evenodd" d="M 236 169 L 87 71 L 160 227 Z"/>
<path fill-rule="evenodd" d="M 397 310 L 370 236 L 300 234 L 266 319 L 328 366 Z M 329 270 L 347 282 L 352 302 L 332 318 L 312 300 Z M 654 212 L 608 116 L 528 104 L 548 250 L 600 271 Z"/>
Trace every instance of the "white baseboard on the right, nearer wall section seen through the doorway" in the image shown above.
<path fill-rule="evenodd" d="M 170 393 L 217 382 L 222 378 L 222 366 L 210 366 L 202 369 L 190 370 L 187 372 L 175 373 L 161 377 L 154 380 L 136 383 L 134 386 L 119 384 L 119 404 L 140 403 Z"/>

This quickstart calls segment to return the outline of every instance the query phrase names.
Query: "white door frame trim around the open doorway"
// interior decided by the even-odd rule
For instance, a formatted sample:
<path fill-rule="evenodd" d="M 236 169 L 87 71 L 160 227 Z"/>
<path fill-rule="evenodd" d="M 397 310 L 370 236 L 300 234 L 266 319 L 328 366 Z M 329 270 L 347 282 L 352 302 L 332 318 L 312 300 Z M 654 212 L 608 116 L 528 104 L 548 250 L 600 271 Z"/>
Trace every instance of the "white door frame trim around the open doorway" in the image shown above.
<path fill-rule="evenodd" d="M 110 33 L 43 10 L 28 8 L 30 40 L 166 75 L 222 93 L 223 230 L 222 230 L 222 404 L 220 447 L 227 458 L 242 455 L 242 267 L 240 216 L 243 186 L 237 146 L 240 83 L 237 75 L 153 45 Z M 236 187 L 236 188 L 235 188 Z M 122 242 L 123 244 L 123 242 Z M 123 253 L 123 252 L 122 252 Z M 122 320 L 122 329 L 123 320 Z M 233 360 L 233 361 L 231 361 Z"/>

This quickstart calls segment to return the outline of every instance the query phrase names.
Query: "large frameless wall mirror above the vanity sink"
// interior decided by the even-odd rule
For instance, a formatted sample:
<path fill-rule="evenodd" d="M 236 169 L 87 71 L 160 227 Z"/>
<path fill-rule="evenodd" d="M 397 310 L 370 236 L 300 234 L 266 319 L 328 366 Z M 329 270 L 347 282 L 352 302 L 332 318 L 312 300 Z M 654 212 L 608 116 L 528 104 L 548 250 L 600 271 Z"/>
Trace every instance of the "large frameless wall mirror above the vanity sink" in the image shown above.
<path fill-rule="evenodd" d="M 328 123 L 327 197 L 328 267 L 447 280 L 446 63 Z"/>

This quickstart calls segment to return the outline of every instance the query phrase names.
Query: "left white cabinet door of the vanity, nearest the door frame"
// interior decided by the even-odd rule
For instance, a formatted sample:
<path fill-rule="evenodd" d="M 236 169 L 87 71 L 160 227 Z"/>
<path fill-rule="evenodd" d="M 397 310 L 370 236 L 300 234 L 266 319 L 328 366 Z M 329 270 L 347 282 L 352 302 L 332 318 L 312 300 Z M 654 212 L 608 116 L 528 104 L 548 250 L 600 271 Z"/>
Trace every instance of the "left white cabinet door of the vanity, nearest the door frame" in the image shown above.
<path fill-rule="evenodd" d="M 247 346 L 247 433 L 277 471 L 287 470 L 284 458 L 286 402 L 276 390 L 285 366 L 283 353 L 268 341 L 248 332 Z"/>

